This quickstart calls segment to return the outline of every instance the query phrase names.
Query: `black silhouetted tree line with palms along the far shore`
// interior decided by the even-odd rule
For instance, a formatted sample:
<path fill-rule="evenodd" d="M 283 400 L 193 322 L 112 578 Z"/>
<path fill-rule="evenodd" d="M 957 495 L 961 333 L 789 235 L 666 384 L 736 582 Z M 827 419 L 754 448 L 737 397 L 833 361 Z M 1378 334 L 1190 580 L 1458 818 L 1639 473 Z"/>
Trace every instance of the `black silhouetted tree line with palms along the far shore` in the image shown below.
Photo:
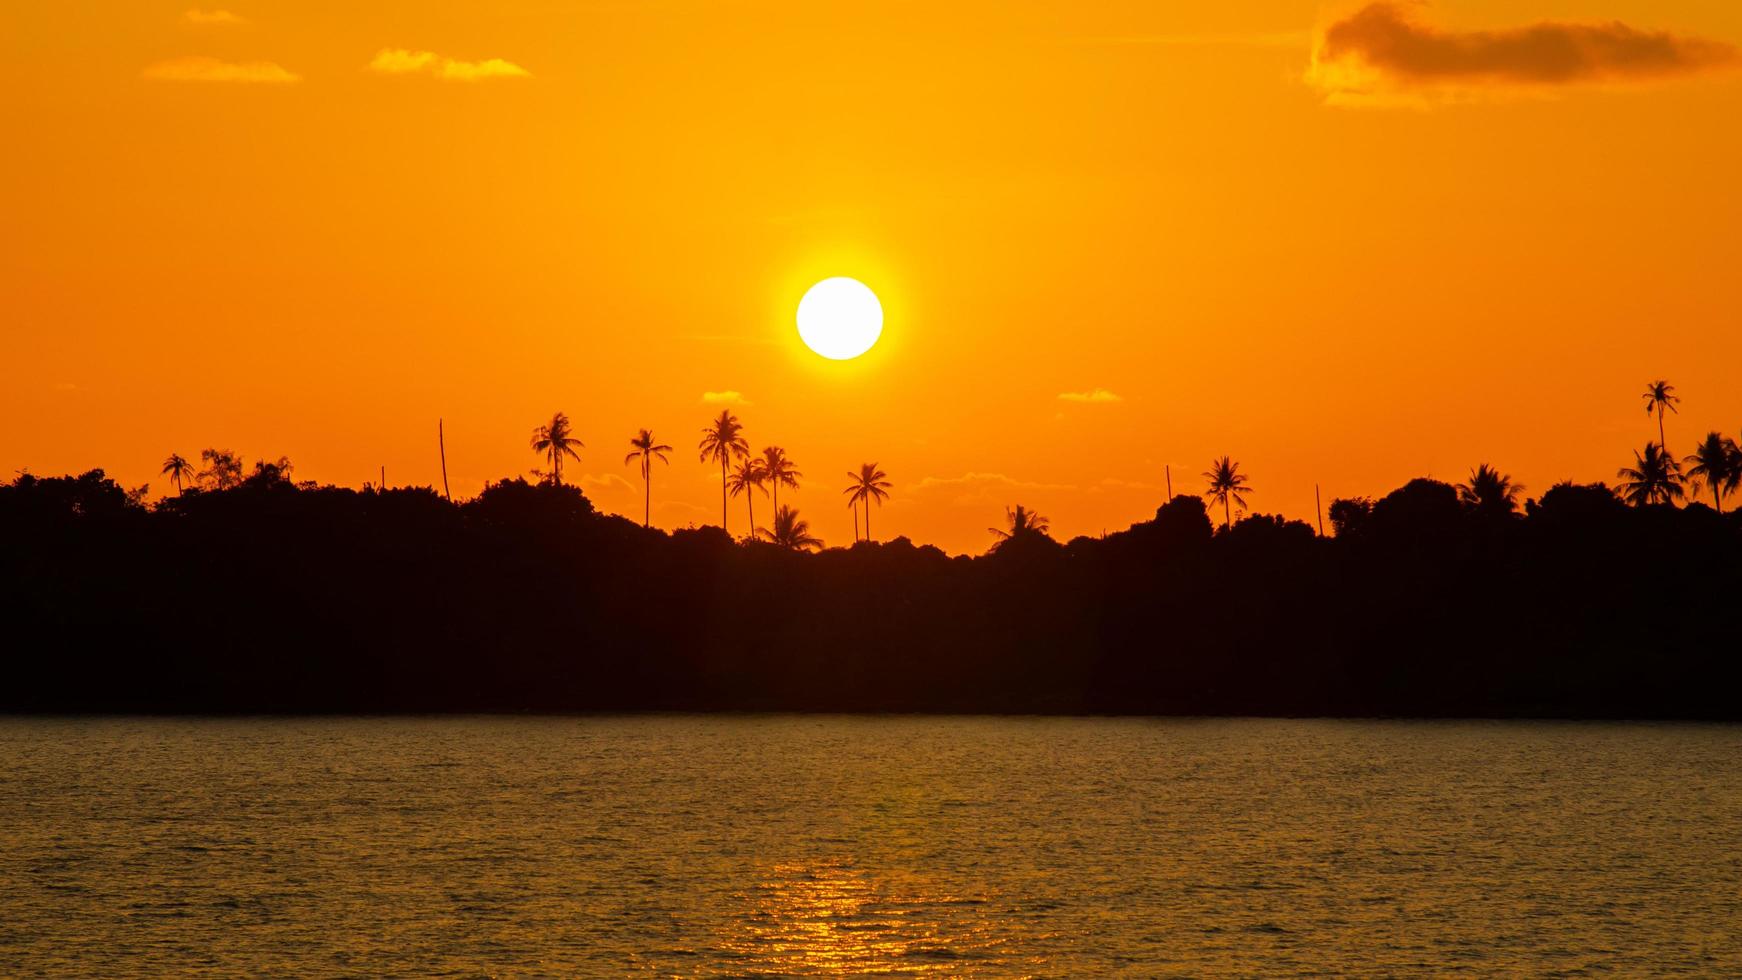
<path fill-rule="evenodd" d="M 1646 393 L 1660 440 L 1676 400 Z M 1202 496 L 1099 538 L 1057 541 L 1014 505 L 977 557 L 873 541 L 895 491 L 874 463 L 843 491 L 861 540 L 822 548 L 777 496 L 803 473 L 728 411 L 697 446 L 721 526 L 665 533 L 652 470 L 672 447 L 629 442 L 641 522 L 563 482 L 582 444 L 561 413 L 530 442 L 538 482 L 463 501 L 218 449 L 169 456 L 155 503 L 101 470 L 19 475 L 0 708 L 1742 717 L 1742 519 L 1723 512 L 1742 453 L 1719 433 L 1681 463 L 1648 442 L 1615 487 L 1524 498 L 1482 463 L 1340 498 L 1333 536 L 1235 513 L 1254 491 L 1223 456 Z M 1711 507 L 1678 507 L 1686 486 Z"/>

